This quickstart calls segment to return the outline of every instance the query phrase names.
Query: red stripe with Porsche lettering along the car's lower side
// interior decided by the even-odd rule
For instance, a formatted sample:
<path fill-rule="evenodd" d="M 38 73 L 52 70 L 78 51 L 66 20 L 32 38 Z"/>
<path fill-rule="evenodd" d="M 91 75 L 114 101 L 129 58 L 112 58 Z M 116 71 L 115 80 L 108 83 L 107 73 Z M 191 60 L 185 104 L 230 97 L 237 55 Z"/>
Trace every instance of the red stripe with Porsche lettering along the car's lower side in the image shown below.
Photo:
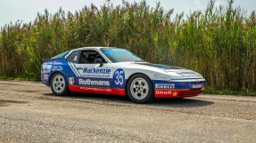
<path fill-rule="evenodd" d="M 70 91 L 125 96 L 124 89 L 111 89 L 111 88 L 105 88 L 105 87 L 85 87 L 85 86 L 78 86 L 78 85 L 69 85 L 69 89 Z"/>

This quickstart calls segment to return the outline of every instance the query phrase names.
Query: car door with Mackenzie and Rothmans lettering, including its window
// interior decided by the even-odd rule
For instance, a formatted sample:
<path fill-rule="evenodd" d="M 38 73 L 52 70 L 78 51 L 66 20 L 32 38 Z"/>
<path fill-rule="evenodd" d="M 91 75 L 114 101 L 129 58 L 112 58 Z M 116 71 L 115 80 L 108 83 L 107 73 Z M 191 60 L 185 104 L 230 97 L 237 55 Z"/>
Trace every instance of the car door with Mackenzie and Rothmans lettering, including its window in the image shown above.
<path fill-rule="evenodd" d="M 103 65 L 99 63 L 102 61 Z M 100 52 L 83 50 L 80 52 L 78 63 L 78 85 L 84 91 L 105 92 L 111 91 L 113 69 Z"/>

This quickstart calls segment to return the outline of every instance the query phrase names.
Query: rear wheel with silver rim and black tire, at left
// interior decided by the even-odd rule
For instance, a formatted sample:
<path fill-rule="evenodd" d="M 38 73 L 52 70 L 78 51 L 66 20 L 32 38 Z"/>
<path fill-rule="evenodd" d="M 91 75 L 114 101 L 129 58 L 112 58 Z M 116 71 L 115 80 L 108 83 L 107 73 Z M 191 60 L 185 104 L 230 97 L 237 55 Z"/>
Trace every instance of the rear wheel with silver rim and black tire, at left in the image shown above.
<path fill-rule="evenodd" d="M 70 89 L 64 75 L 61 73 L 55 73 L 52 76 L 51 90 L 53 91 L 54 95 L 57 96 L 70 95 Z"/>

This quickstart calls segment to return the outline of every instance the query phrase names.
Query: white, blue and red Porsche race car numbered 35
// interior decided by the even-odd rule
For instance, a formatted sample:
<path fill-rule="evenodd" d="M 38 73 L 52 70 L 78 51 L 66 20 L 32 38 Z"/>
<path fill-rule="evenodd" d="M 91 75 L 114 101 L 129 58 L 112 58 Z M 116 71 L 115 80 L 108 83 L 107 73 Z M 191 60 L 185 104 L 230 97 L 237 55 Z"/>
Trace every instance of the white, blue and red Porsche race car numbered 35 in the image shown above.
<path fill-rule="evenodd" d="M 120 48 L 78 48 L 44 61 L 41 78 L 55 95 L 70 91 L 128 95 L 146 103 L 199 95 L 205 83 L 192 70 L 151 64 Z"/>

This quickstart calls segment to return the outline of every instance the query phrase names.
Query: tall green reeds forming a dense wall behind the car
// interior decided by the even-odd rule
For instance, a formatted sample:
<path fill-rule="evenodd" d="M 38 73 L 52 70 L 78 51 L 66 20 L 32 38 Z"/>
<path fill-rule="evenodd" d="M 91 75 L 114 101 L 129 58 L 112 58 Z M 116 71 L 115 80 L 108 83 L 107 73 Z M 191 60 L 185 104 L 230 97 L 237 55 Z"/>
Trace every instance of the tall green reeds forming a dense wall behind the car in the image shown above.
<path fill-rule="evenodd" d="M 145 1 L 54 15 L 45 10 L 33 22 L 1 28 L 0 76 L 39 80 L 41 59 L 83 46 L 114 46 L 153 63 L 193 69 L 215 91 L 256 91 L 256 14 L 232 4 L 215 9 L 211 1 L 186 17 Z"/>

